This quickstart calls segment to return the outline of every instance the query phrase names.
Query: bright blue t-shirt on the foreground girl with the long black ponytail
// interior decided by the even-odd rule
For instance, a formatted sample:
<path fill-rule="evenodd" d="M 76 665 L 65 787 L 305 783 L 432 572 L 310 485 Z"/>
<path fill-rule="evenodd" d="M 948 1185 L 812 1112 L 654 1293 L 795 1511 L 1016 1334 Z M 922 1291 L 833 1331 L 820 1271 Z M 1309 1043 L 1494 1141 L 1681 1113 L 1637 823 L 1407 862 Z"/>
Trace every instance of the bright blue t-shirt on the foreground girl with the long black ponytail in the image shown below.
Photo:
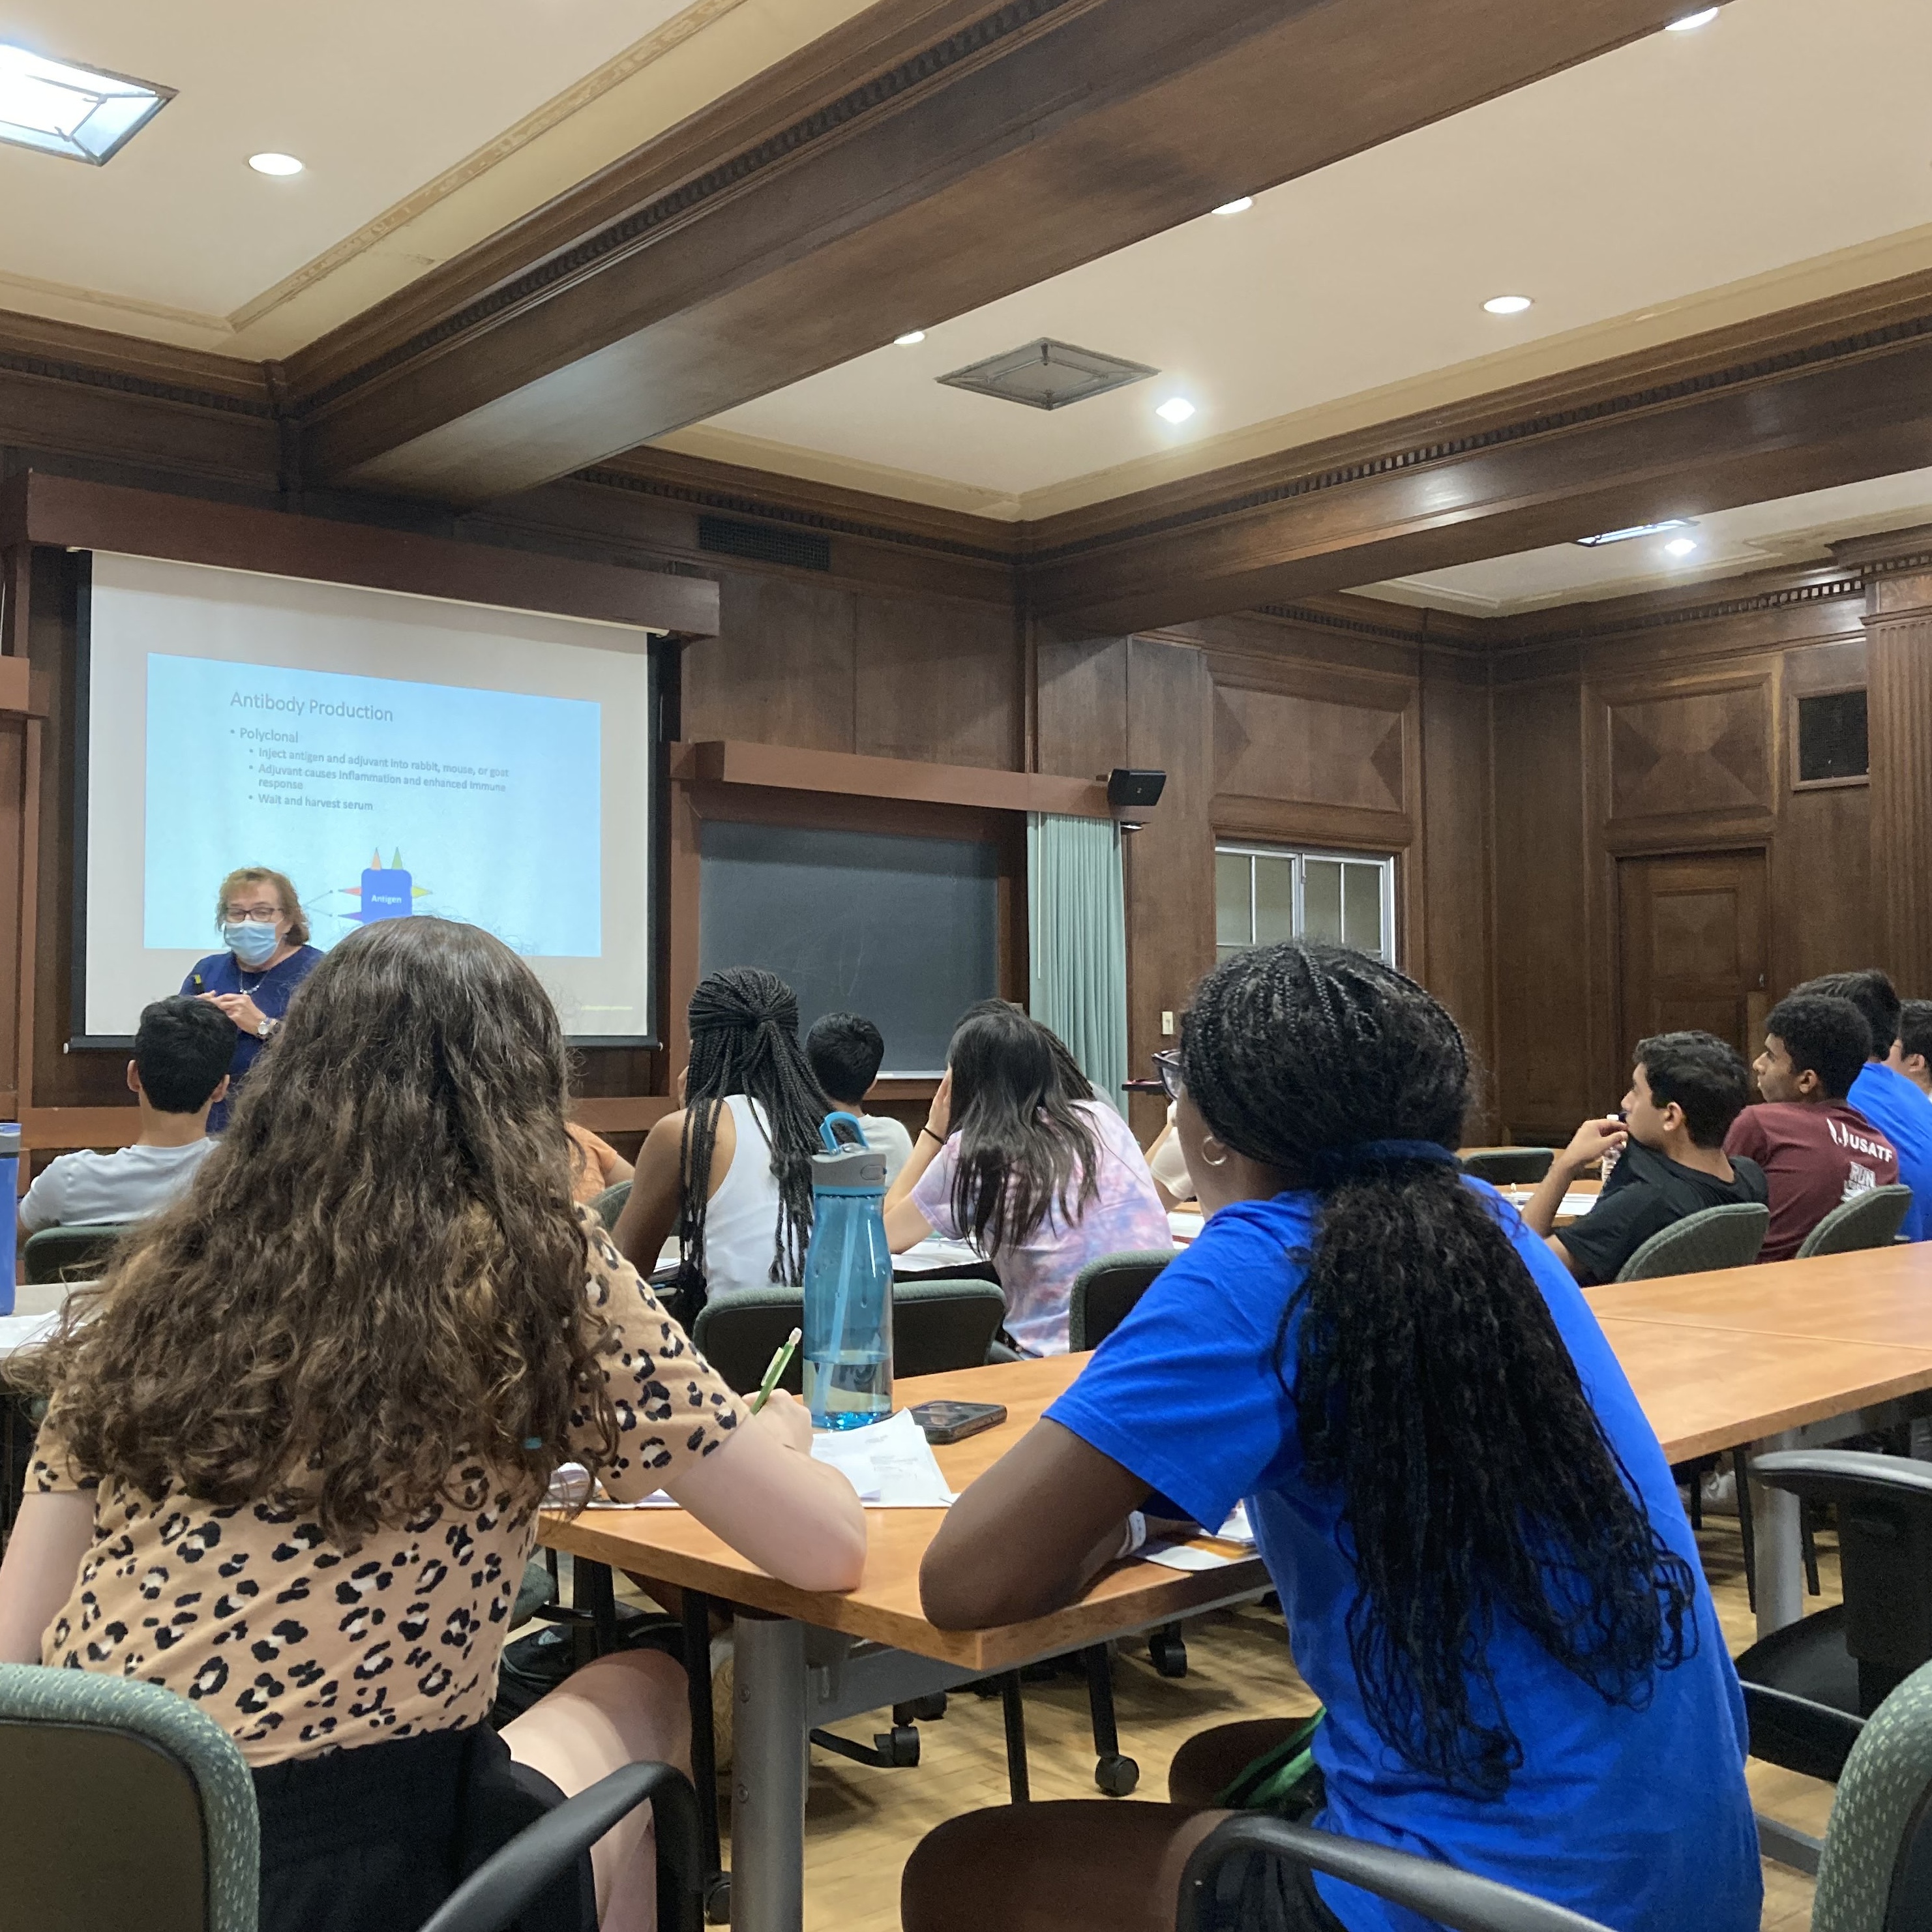
<path fill-rule="evenodd" d="M 1756 1932 L 1745 1704 L 1677 1486 L 1577 1283 L 1493 1188 L 1470 1186 L 1495 1202 L 1650 1520 L 1696 1578 L 1696 1650 L 1656 1673 L 1642 1710 L 1605 1702 L 1520 1625 L 1497 1625 L 1488 1658 L 1522 1743 L 1503 1799 L 1410 1770 L 1364 1710 L 1339 1495 L 1304 1482 L 1294 1399 L 1275 1374 L 1283 1308 L 1304 1277 L 1291 1256 L 1316 1235 L 1314 1194 L 1223 1208 L 1047 1414 L 1196 1522 L 1221 1522 L 1248 1499 L 1294 1663 L 1327 1706 L 1314 1745 L 1327 1779 L 1321 1828 L 1480 1872 L 1615 1932 Z M 1283 1360 L 1293 1383 L 1293 1327 Z M 1318 1888 L 1350 1932 L 1426 1924 L 1352 1886 Z"/>

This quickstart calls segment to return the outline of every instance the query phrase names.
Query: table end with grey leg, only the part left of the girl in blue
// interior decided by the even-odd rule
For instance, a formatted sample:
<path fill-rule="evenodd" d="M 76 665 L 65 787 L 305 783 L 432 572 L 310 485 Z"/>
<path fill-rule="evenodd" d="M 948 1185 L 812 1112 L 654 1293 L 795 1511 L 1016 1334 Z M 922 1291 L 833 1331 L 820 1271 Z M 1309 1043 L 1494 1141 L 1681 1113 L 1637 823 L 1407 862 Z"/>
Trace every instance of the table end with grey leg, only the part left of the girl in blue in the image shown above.
<path fill-rule="evenodd" d="M 964 1490 L 991 1468 L 1084 1366 L 1049 1356 L 997 1368 L 900 1381 L 900 1406 L 939 1399 L 1005 1403 L 1007 1420 L 962 1443 L 933 1449 L 947 1484 Z M 543 1542 L 655 1582 L 701 1590 L 740 1605 L 734 1623 L 732 1926 L 798 1932 L 806 1888 L 806 1766 L 810 1733 L 858 1712 L 956 1690 L 1010 1671 L 1269 1588 L 1252 1551 L 1211 1571 L 1124 1563 L 1082 1602 L 995 1631 L 939 1631 L 920 1611 L 920 1559 L 943 1509 L 867 1509 L 866 1575 L 844 1596 L 775 1582 L 674 1509 L 601 1509 L 547 1515 Z"/>

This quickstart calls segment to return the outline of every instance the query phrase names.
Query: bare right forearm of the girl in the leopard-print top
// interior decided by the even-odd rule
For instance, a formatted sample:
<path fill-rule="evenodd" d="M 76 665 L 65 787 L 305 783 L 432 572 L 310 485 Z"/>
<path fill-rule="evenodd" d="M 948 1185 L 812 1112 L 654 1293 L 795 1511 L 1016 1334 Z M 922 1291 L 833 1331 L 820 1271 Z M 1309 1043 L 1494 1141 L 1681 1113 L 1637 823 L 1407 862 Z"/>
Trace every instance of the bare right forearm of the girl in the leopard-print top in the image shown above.
<path fill-rule="evenodd" d="M 838 1470 L 811 1459 L 811 1412 L 784 1389 L 665 1492 L 796 1590 L 854 1590 L 866 1575 L 866 1509 Z"/>

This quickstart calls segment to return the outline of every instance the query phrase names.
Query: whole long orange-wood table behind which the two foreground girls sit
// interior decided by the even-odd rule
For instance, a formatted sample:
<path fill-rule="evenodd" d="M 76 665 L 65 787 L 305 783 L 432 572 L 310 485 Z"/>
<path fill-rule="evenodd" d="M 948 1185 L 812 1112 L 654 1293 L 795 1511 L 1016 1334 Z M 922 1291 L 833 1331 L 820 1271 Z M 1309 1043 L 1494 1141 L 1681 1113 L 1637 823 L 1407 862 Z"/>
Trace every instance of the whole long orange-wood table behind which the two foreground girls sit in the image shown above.
<path fill-rule="evenodd" d="M 1932 1244 L 1598 1289 L 1590 1302 L 1673 1463 L 1716 1449 L 1791 1447 L 1804 1430 L 1845 1434 L 1859 1410 L 1932 1389 Z M 927 1376 L 896 1393 L 904 1403 L 1007 1405 L 1001 1428 L 935 1451 L 949 1484 L 962 1490 L 1018 1441 L 1084 1360 Z M 1758 1625 L 1770 1631 L 1801 1613 L 1799 1519 L 1793 1497 L 1760 1495 Z M 866 1577 L 848 1596 L 773 1582 L 680 1511 L 545 1517 L 543 1540 L 556 1549 L 744 1605 L 732 1814 L 732 1924 L 740 1932 L 798 1932 L 804 1920 L 806 1735 L 813 1725 L 1267 1588 L 1254 1555 L 1204 1573 L 1130 1563 L 1051 1617 L 939 1631 L 920 1611 L 918 1578 L 941 1515 L 867 1511 Z"/>

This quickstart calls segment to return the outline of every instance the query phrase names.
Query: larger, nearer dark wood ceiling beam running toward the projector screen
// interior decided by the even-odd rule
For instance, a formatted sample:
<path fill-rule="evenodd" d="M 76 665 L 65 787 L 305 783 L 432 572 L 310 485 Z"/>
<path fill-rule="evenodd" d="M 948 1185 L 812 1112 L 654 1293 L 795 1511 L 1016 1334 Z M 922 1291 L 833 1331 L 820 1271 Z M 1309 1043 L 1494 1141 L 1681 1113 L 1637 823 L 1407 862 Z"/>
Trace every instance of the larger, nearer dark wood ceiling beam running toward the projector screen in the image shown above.
<path fill-rule="evenodd" d="M 881 0 L 294 357 L 311 481 L 483 502 L 1662 27 L 1681 0 Z"/>

